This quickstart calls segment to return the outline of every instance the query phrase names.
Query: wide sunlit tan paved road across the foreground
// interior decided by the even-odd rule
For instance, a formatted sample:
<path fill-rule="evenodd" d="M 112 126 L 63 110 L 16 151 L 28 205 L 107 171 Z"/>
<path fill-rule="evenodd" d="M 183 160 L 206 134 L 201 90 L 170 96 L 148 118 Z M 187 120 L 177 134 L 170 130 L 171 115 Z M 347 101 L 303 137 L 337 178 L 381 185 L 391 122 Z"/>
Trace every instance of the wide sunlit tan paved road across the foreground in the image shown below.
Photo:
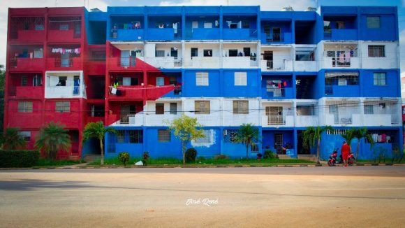
<path fill-rule="evenodd" d="M 0 171 L 0 227 L 404 227 L 405 166 Z"/>

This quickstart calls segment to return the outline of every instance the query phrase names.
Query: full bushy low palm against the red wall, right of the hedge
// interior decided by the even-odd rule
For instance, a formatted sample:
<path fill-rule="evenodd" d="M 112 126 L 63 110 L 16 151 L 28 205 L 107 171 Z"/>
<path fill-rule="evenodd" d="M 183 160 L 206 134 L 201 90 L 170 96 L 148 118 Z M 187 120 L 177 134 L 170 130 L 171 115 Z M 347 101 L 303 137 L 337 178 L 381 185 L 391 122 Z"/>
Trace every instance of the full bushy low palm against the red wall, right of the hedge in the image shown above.
<path fill-rule="evenodd" d="M 71 148 L 71 136 L 68 135 L 68 130 L 64 129 L 64 125 L 50 122 L 40 129 L 34 146 L 54 160 L 57 158 L 57 152 Z"/>

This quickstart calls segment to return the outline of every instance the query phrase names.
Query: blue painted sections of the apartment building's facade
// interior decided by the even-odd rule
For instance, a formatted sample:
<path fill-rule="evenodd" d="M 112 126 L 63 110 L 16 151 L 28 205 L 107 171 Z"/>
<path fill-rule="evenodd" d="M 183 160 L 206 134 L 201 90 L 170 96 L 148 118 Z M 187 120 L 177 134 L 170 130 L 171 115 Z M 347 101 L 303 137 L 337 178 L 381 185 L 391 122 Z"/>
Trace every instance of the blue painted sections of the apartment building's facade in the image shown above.
<path fill-rule="evenodd" d="M 377 20 L 379 27 L 369 27 L 369 17 Z M 139 22 L 140 24 L 136 25 Z M 325 23 L 327 27 L 325 28 Z M 325 99 L 399 99 L 400 83 L 399 69 L 382 67 L 378 69 L 347 67 L 316 67 L 312 71 L 300 71 L 286 69 L 283 71 L 266 71 L 260 67 L 263 60 L 263 48 L 270 50 L 274 47 L 285 45 L 318 45 L 324 43 L 360 43 L 360 42 L 387 42 L 397 43 L 399 41 L 398 15 L 395 7 L 321 7 L 317 12 L 265 12 L 260 11 L 260 6 L 182 6 L 182 7 L 108 7 L 107 12 L 87 13 L 87 40 L 90 44 L 100 44 L 108 41 L 119 42 L 179 42 L 184 45 L 214 43 L 232 43 L 244 48 L 244 44 L 254 43 L 262 50 L 256 50 L 258 58 L 257 67 L 246 67 L 246 69 L 235 66 L 235 68 L 212 68 L 196 69 L 186 66 L 180 69 L 162 69 L 168 76 L 175 76 L 177 83 L 182 84 L 182 91 L 175 94 L 169 92 L 162 99 L 256 99 L 260 102 L 260 111 L 265 115 L 265 107 L 262 101 L 294 101 L 294 104 L 303 102 L 301 100 L 321 101 Z M 174 27 L 177 24 L 177 28 Z M 116 27 L 115 27 L 116 26 Z M 114 30 L 112 30 L 114 29 Z M 116 30 L 115 30 L 116 29 Z M 116 36 L 113 34 L 116 32 Z M 105 37 L 105 40 L 103 40 Z M 183 47 L 184 47 L 183 45 Z M 364 44 L 363 44 L 364 45 Z M 371 45 L 376 45 L 375 43 Z M 295 49 L 294 49 L 295 50 Z M 361 52 L 362 50 L 358 50 Z M 189 52 L 188 49 L 183 52 Z M 274 49 L 274 61 L 277 50 Z M 390 53 L 387 53 L 390 54 Z M 219 51 L 222 54 L 222 50 Z M 273 54 L 272 54 L 273 55 Z M 326 55 L 326 54 L 325 54 Z M 315 60 L 323 62 L 319 57 L 325 57 L 318 53 Z M 228 57 L 228 54 L 222 57 Z M 362 61 L 367 57 L 367 52 L 362 52 Z M 273 56 L 272 56 L 273 58 Z M 283 57 L 284 59 L 286 57 Z M 295 54 L 290 56 L 295 61 Z M 266 59 L 268 60 L 268 59 Z M 273 60 L 273 59 L 272 59 Z M 272 61 L 269 60 L 269 61 Z M 399 61 L 399 59 L 389 59 Z M 382 59 L 384 61 L 384 59 Z M 221 66 L 221 65 L 220 65 Z M 246 85 L 235 85 L 235 72 L 246 72 Z M 197 85 L 196 73 L 208 73 L 208 85 Z M 358 73 L 358 80 L 353 85 L 339 85 L 339 82 L 326 85 L 325 74 L 327 73 Z M 385 85 L 375 85 L 374 73 L 385 73 Z M 282 87 L 281 96 L 275 95 L 268 89 L 269 81 L 281 80 L 286 85 Z M 297 80 L 307 83 L 297 85 Z M 302 92 L 302 90 L 306 90 Z M 332 93 L 330 92 L 332 91 Z M 304 94 L 304 95 L 302 95 Z M 304 96 L 304 97 L 302 97 Z M 250 100 L 249 100 L 250 101 Z M 266 105 L 267 106 L 267 105 Z M 277 106 L 277 104 L 274 104 Z M 220 107 L 212 107 L 212 110 Z M 294 109 L 294 108 L 293 108 Z M 293 111 L 293 115 L 295 111 Z M 261 120 L 258 122 L 262 122 Z M 116 126 L 115 126 L 116 127 Z M 347 129 L 337 126 L 336 128 Z M 354 126 L 360 127 L 360 126 Z M 128 151 L 132 157 L 140 157 L 143 151 L 148 151 L 152 157 L 181 157 L 180 143 L 171 135 L 170 142 L 159 143 L 157 141 L 157 130 L 162 127 L 154 125 L 131 128 L 119 126 L 122 129 L 141 129 L 143 131 L 142 143 L 114 143 L 114 150 L 106 152 L 106 157 L 116 157 L 121 151 Z M 209 145 L 188 145 L 198 150 L 198 155 L 212 157 L 224 154 L 230 157 L 244 157 L 245 148 L 240 143 L 230 143 L 224 138 L 224 130 L 237 129 L 235 126 L 205 126 L 204 129 L 212 129 L 213 142 Z M 275 151 L 274 136 L 281 134 L 283 143 L 289 143 L 288 154 L 297 157 L 300 154 L 300 131 L 305 127 L 278 126 L 258 124 L 260 131 L 260 142 L 257 152 L 264 150 Z M 387 131 L 395 138 L 392 143 L 378 143 L 376 146 L 388 151 L 393 147 L 402 151 L 402 127 L 390 126 L 369 126 L 370 130 Z M 113 136 L 106 136 L 105 148 L 108 148 L 114 140 Z M 340 147 L 342 138 L 339 135 L 323 135 L 321 144 L 321 157 L 326 159 L 333 148 Z M 356 145 L 353 141 L 353 147 Z M 381 149 L 381 150 L 383 150 Z M 86 149 L 87 150 L 87 149 Z M 371 148 L 369 143 L 360 142 L 360 159 L 372 159 L 376 150 Z M 378 149 L 380 150 L 380 149 Z M 315 152 L 314 148 L 311 150 Z M 256 152 L 249 156 L 256 157 Z"/>

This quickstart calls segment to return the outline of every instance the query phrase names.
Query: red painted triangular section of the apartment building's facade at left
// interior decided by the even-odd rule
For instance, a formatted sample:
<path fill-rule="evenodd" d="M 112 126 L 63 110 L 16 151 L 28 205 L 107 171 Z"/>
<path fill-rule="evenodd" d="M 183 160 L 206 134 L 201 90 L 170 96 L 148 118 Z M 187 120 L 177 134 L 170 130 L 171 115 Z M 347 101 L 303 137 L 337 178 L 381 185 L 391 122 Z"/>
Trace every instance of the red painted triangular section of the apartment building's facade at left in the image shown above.
<path fill-rule="evenodd" d="M 84 8 L 9 8 L 4 126 L 30 131 L 28 149 L 33 149 L 40 127 L 60 122 L 69 130 L 72 146 L 60 158 L 80 159 L 82 130 L 87 122 L 106 125 L 119 120 L 121 106 L 143 110 L 147 100 L 158 99 L 174 87 L 156 87 L 156 77 L 169 78 L 141 59 L 135 65 L 121 66 L 120 50 L 107 41 L 88 45 Z M 63 51 L 57 52 L 56 49 Z M 68 59 L 62 55 L 68 52 Z M 71 50 L 80 50 L 71 52 Z M 132 61 L 131 61 L 132 62 Z M 47 71 L 83 71 L 86 96 L 48 99 L 45 97 Z M 119 77 L 137 78 L 138 85 L 119 86 L 122 96 L 110 94 Z M 70 110 L 56 110 L 56 103 L 68 101 Z M 22 103 L 32 104 L 20 110 Z M 20 103 L 20 105 L 19 105 Z M 20 107 L 20 108 L 19 108 Z"/>

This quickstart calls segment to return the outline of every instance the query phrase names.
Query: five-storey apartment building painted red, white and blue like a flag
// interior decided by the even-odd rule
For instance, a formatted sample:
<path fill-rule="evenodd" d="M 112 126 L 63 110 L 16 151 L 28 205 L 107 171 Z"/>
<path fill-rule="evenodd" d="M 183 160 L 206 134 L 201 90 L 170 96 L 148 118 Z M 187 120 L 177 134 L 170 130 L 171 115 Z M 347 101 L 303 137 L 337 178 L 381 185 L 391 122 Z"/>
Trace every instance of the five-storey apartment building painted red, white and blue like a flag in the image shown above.
<path fill-rule="evenodd" d="M 402 151 L 397 18 L 396 7 L 10 8 L 5 126 L 32 147 L 43 124 L 61 122 L 73 158 L 99 152 L 81 137 L 100 120 L 117 129 L 106 157 L 181 157 L 167 122 L 183 113 L 203 125 L 189 145 L 198 156 L 243 157 L 244 123 L 260 131 L 251 157 L 314 154 L 301 134 L 323 125 L 336 129 L 324 158 L 362 126 L 377 143 L 362 139 L 360 159 Z"/>

